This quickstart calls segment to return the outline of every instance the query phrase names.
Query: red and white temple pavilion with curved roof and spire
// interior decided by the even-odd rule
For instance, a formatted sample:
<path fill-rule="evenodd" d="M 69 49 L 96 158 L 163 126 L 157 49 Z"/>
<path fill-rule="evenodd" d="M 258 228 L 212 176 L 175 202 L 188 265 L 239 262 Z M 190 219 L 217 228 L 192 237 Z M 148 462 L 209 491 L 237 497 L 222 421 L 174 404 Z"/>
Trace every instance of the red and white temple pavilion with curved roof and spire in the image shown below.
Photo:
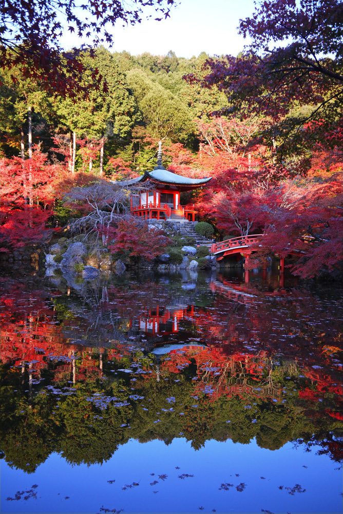
<path fill-rule="evenodd" d="M 161 141 L 159 143 L 157 166 L 153 171 L 129 180 L 127 185 L 149 180 L 151 190 L 131 196 L 131 213 L 145 219 L 173 219 L 173 221 L 195 221 L 197 211 L 180 204 L 180 193 L 205 185 L 212 177 L 188 178 L 167 171 L 162 166 Z"/>

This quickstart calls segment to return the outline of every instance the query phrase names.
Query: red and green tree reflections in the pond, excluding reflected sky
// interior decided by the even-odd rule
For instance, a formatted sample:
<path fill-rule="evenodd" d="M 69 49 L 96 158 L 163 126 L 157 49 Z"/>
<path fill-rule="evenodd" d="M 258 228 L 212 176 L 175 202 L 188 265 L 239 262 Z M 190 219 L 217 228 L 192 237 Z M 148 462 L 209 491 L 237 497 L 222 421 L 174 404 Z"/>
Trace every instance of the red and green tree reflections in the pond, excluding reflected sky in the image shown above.
<path fill-rule="evenodd" d="M 321 312 L 331 322 L 324 330 L 319 321 L 297 321 L 299 302 L 272 299 L 247 310 L 213 296 L 206 282 L 192 290 L 181 286 L 181 279 L 172 286 L 149 279 L 86 285 L 83 292 L 71 288 L 68 293 L 62 284 L 55 295 L 34 284 L 26 289 L 9 283 L 1 299 L 0 448 L 6 460 L 27 471 L 52 451 L 74 463 L 102 462 L 131 437 L 166 444 L 186 437 L 194 448 L 210 438 L 249 443 L 256 437 L 270 449 L 296 440 L 309 448 L 321 444 L 323 452 L 340 458 L 341 339 L 332 314 Z M 318 301 L 302 295 L 302 318 L 313 323 Z M 157 381 L 153 357 L 135 351 L 141 335 L 129 320 L 175 303 L 194 305 L 175 340 L 192 336 L 209 347 L 161 356 Z M 161 339 L 149 339 L 146 348 Z M 118 369 L 134 363 L 141 372 L 130 382 L 130 374 Z M 42 378 L 56 388 L 70 381 L 73 392 L 37 394 L 44 391 Z M 86 399 L 94 393 L 129 405 L 116 407 L 112 401 L 102 410 Z M 128 399 L 130 394 L 144 399 Z M 172 396 L 175 403 L 166 402 Z"/>

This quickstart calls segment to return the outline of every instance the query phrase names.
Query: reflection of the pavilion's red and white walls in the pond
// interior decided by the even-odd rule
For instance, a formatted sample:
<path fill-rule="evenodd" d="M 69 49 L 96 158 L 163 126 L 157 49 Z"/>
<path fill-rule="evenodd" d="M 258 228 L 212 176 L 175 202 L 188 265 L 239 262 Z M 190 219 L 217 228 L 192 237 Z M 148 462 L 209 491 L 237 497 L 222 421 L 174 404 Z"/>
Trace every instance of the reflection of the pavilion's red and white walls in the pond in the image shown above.
<path fill-rule="evenodd" d="M 184 317 L 193 317 L 194 306 L 166 306 L 147 310 L 138 318 L 130 321 L 130 327 L 154 336 L 162 332 L 164 335 L 175 334 L 179 330 L 179 322 Z"/>

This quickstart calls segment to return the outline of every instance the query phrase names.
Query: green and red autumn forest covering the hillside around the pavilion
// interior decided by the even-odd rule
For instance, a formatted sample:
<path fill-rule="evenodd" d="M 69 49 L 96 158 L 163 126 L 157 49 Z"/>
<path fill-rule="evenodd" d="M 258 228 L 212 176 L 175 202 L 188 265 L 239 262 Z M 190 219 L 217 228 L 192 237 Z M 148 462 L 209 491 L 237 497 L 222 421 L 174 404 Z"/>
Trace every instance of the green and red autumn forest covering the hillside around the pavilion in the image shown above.
<path fill-rule="evenodd" d="M 320 10 L 311 2 L 291 12 L 291 2 L 272 4 L 268 16 L 262 6 L 241 21 L 252 45 L 237 57 L 131 56 L 99 45 L 79 51 L 78 87 L 70 90 L 53 73 L 48 86 L 37 63 L 28 74 L 7 49 L 0 251 L 65 235 L 71 218 L 93 208 L 68 196 L 75 188 L 153 169 L 162 140 L 168 170 L 213 177 L 208 187 L 183 193 L 181 204 L 194 204 L 218 240 L 265 234 L 251 266 L 291 248 L 300 277 L 336 273 L 343 143 L 337 6 Z M 281 7 L 287 26 L 274 23 Z"/>

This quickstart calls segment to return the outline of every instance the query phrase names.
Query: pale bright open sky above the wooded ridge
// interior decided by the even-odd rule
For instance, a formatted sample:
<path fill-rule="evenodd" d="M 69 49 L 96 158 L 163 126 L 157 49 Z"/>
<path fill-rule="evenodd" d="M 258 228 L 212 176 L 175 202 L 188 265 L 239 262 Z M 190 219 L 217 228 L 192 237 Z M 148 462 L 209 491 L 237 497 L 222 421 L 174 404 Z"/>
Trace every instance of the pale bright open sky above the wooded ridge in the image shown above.
<path fill-rule="evenodd" d="M 181 0 L 170 18 L 161 22 L 145 20 L 128 27 L 118 23 L 112 29 L 112 50 L 126 50 L 132 55 L 165 55 L 173 50 L 178 57 L 187 58 L 202 51 L 212 56 L 237 55 L 244 45 L 238 35 L 239 20 L 251 16 L 253 11 L 253 0 Z M 66 34 L 64 44 L 68 47 L 78 43 Z"/>

